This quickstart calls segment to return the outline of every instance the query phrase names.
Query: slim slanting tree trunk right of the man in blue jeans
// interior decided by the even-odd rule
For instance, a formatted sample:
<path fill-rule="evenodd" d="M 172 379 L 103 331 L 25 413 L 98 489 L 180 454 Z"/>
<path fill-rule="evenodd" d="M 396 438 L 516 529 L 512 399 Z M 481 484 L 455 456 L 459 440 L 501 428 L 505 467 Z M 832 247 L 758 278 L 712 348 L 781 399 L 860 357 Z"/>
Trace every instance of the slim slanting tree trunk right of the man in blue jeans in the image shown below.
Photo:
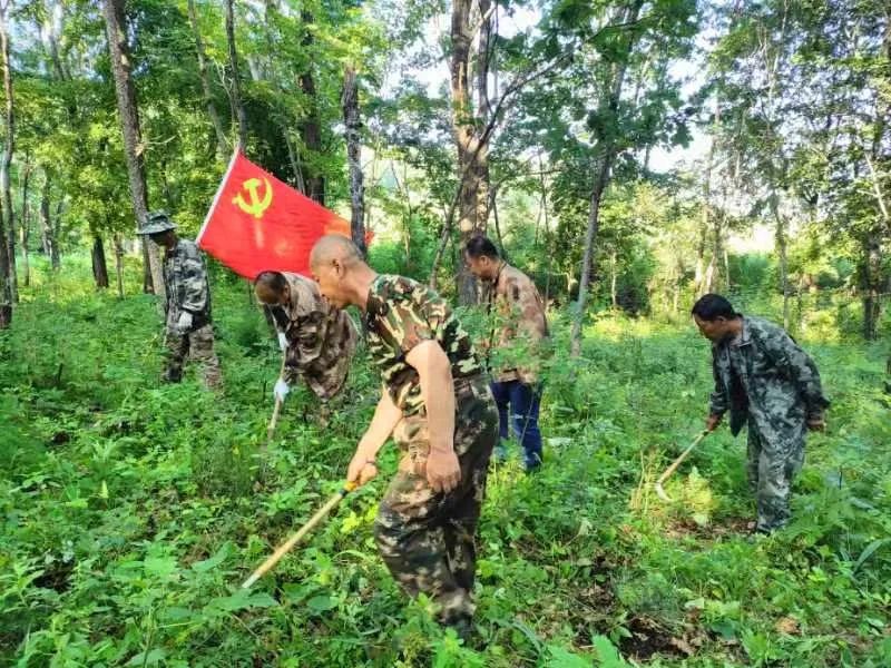
<path fill-rule="evenodd" d="M 644 0 L 636 0 L 634 4 L 627 9 L 625 17 L 619 20 L 624 24 L 636 22 L 643 4 Z M 613 86 L 609 91 L 609 98 L 607 99 L 606 110 L 609 112 L 609 118 L 614 120 L 618 115 L 621 86 L 625 81 L 628 57 L 634 50 L 636 35 L 630 32 L 626 35 L 626 39 L 625 58 L 618 60 L 615 65 L 611 81 Z M 599 166 L 591 189 L 590 208 L 588 209 L 588 229 L 585 234 L 585 254 L 581 258 L 581 269 L 579 272 L 578 302 L 576 303 L 572 332 L 570 334 L 569 355 L 574 358 L 581 354 L 581 325 L 585 322 L 585 308 L 588 303 L 588 284 L 590 283 L 591 268 L 594 265 L 594 245 L 597 240 L 597 232 L 600 226 L 600 202 L 609 184 L 609 173 L 613 169 L 613 161 L 616 159 L 616 145 L 611 138 L 600 138 L 598 139 L 598 144 L 603 144 L 603 146 L 600 147 Z"/>

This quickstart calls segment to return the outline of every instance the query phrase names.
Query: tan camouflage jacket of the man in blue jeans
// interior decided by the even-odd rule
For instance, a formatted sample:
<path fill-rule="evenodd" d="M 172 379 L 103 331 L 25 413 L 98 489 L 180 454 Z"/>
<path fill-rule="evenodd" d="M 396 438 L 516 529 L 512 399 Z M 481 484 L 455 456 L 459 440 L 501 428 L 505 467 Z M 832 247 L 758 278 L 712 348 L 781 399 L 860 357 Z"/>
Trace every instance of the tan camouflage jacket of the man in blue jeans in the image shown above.
<path fill-rule="evenodd" d="M 495 380 L 538 382 L 548 341 L 548 320 L 536 284 L 519 269 L 502 263 L 489 286 L 487 313 L 491 321 L 487 361 L 492 360 Z M 525 363 L 519 364 L 519 360 Z"/>

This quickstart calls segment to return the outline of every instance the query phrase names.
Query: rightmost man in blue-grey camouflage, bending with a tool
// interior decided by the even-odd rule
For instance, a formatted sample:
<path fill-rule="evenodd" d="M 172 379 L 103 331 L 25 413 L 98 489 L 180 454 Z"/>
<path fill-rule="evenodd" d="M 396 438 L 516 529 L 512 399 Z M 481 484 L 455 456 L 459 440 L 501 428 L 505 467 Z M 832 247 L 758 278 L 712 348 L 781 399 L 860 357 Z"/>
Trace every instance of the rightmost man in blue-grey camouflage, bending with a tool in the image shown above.
<path fill-rule="evenodd" d="M 706 429 L 731 412 L 731 432 L 748 423 L 748 482 L 757 499 L 755 531 L 770 533 L 790 519 L 792 480 L 804 462 L 804 433 L 822 431 L 820 373 L 782 327 L 744 316 L 721 295 L 693 306 L 693 318 L 712 341 L 715 391 Z"/>

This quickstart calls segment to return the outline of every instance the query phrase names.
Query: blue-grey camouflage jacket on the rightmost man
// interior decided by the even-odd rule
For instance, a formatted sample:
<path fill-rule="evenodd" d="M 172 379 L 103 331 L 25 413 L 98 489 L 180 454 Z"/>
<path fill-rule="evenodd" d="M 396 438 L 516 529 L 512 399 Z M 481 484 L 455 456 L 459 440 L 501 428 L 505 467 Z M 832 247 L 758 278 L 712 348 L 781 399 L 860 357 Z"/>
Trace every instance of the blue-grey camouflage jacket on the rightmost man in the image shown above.
<path fill-rule="evenodd" d="M 762 318 L 743 317 L 738 340 L 712 344 L 712 414 L 730 410 L 734 435 L 752 419 L 768 439 L 801 438 L 805 420 L 829 406 L 813 360 Z"/>

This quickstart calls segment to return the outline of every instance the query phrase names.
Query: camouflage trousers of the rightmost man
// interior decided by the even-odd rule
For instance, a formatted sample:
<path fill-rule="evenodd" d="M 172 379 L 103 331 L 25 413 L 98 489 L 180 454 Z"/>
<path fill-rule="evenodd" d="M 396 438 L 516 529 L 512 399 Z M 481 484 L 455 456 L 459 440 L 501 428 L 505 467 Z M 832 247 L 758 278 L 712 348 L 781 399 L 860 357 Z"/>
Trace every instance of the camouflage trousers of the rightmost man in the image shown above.
<path fill-rule="evenodd" d="M 757 500 L 757 531 L 789 523 L 792 481 L 804 463 L 804 431 L 797 439 L 766 439 L 748 419 L 748 487 Z"/>

